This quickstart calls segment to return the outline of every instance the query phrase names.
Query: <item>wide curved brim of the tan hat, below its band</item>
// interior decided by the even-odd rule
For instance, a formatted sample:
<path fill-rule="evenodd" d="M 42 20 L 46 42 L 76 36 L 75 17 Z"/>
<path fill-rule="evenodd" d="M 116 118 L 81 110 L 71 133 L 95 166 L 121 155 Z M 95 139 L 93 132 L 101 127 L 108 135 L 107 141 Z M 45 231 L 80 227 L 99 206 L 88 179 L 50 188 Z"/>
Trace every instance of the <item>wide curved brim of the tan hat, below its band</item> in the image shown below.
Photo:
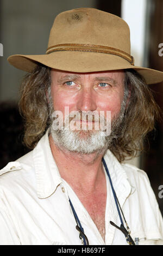
<path fill-rule="evenodd" d="M 101 72 L 106 70 L 135 69 L 146 80 L 146 83 L 156 84 L 163 81 L 163 72 L 131 65 L 122 57 L 97 52 L 56 51 L 46 55 L 11 55 L 9 63 L 26 72 L 41 63 L 50 68 L 74 73 Z"/>

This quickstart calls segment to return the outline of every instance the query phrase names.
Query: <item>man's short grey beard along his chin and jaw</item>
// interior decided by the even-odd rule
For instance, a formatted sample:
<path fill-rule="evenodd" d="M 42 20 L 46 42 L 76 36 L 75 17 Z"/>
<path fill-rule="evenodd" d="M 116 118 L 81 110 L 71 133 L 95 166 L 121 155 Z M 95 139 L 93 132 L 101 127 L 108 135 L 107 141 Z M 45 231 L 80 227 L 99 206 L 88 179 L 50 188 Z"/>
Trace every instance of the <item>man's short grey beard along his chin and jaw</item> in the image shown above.
<path fill-rule="evenodd" d="M 65 125 L 63 129 L 54 130 L 51 121 L 50 132 L 54 143 L 62 150 L 65 149 L 70 152 L 82 154 L 95 152 L 97 154 L 103 153 L 111 146 L 112 142 L 117 138 L 118 133 L 120 133 L 125 109 L 126 99 L 124 99 L 121 104 L 120 113 L 117 117 L 114 117 L 114 120 L 111 123 L 110 135 L 106 135 L 106 132 L 101 130 L 67 130 L 65 129 Z"/>

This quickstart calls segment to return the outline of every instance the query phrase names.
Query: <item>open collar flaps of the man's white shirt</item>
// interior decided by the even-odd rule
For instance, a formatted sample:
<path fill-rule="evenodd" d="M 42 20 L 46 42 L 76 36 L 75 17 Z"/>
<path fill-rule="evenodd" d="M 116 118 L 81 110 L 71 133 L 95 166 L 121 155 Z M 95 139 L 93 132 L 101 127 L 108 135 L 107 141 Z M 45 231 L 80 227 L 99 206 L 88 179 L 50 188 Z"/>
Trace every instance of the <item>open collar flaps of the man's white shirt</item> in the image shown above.
<path fill-rule="evenodd" d="M 51 196 L 62 182 L 62 178 L 59 174 L 57 164 L 55 163 L 49 145 L 48 131 L 49 130 L 42 136 L 33 150 L 37 195 L 39 198 L 47 198 Z M 118 200 L 120 201 L 120 204 L 123 205 L 124 201 L 131 193 L 131 186 L 126 171 L 110 150 L 106 151 L 104 160 L 108 166 Z"/>

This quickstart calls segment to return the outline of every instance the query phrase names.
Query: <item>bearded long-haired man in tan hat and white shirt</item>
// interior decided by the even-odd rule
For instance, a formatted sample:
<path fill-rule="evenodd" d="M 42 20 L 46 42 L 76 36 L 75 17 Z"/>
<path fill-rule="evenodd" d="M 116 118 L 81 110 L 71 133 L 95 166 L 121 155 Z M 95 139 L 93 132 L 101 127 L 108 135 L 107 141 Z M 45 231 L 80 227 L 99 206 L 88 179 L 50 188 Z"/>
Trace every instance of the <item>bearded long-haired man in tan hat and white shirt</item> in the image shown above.
<path fill-rule="evenodd" d="M 0 243 L 163 244 L 147 175 L 122 163 L 154 128 L 147 84 L 163 80 L 134 66 L 127 23 L 93 8 L 65 11 L 46 55 L 8 60 L 29 72 L 20 109 L 34 149 L 1 170 Z"/>

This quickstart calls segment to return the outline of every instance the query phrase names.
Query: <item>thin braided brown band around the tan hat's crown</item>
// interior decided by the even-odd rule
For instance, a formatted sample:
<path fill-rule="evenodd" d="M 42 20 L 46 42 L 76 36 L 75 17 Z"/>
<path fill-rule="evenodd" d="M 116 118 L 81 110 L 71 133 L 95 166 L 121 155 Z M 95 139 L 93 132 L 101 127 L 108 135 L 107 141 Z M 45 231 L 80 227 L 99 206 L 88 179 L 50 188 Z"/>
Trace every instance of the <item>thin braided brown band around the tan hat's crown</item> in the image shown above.
<path fill-rule="evenodd" d="M 103 45 L 93 45 L 93 44 L 58 44 L 48 47 L 46 54 L 49 54 L 54 51 L 85 51 L 85 52 L 99 52 L 99 53 L 108 53 L 120 56 L 131 65 L 134 65 L 133 56 L 129 55 L 127 52 L 121 51 L 119 49 L 103 46 Z"/>

